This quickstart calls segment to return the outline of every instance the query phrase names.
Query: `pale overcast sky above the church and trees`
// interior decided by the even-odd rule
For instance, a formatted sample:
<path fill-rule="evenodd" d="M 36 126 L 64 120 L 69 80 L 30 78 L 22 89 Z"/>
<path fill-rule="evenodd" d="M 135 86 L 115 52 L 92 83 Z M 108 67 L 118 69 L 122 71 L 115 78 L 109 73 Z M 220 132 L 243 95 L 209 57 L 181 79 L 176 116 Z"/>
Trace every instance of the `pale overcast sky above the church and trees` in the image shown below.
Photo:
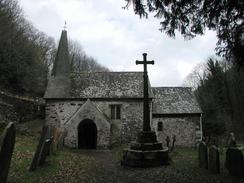
<path fill-rule="evenodd" d="M 153 86 L 181 86 L 199 62 L 214 55 L 216 36 L 206 32 L 191 41 L 167 37 L 159 31 L 160 20 L 140 19 L 124 0 L 19 0 L 27 19 L 40 31 L 58 40 L 67 21 L 69 38 L 112 71 L 142 71 L 135 60 L 142 53 Z"/>

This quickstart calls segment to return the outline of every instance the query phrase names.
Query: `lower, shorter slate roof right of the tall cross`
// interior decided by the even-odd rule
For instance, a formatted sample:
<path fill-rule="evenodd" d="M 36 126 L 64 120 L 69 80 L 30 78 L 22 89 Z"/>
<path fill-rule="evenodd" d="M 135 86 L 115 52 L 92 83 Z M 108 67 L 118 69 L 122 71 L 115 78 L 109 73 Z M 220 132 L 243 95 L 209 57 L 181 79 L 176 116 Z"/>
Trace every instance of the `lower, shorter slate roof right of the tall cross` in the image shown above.
<path fill-rule="evenodd" d="M 153 114 L 202 113 L 189 87 L 153 87 Z"/>

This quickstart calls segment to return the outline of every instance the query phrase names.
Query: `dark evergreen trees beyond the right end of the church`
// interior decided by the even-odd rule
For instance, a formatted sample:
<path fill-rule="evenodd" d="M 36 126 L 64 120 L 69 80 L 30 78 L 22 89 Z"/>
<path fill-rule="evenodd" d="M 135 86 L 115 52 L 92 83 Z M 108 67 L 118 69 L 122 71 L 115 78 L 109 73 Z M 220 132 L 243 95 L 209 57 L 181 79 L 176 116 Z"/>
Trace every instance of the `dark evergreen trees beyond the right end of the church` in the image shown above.
<path fill-rule="evenodd" d="M 209 59 L 195 94 L 204 112 L 205 136 L 233 131 L 243 138 L 242 77 L 235 66 L 227 64 L 226 61 Z"/>

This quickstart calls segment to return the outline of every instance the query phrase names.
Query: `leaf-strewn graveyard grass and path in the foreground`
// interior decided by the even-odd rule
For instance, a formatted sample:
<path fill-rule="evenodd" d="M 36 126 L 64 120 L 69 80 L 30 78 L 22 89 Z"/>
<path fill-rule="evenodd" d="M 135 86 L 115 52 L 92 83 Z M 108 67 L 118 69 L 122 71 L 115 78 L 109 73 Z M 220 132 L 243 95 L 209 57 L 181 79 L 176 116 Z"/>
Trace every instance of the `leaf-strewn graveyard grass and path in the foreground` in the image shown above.
<path fill-rule="evenodd" d="M 170 154 L 171 165 L 158 168 L 133 169 L 120 166 L 122 148 L 112 151 L 88 151 L 65 148 L 47 158 L 43 167 L 29 172 L 38 143 L 39 132 L 29 135 L 17 133 L 14 154 L 9 171 L 9 183 L 38 182 L 185 182 L 233 183 L 240 179 L 230 177 L 224 169 L 224 150 L 220 149 L 221 174 L 210 174 L 198 168 L 197 150 L 177 147 Z"/>

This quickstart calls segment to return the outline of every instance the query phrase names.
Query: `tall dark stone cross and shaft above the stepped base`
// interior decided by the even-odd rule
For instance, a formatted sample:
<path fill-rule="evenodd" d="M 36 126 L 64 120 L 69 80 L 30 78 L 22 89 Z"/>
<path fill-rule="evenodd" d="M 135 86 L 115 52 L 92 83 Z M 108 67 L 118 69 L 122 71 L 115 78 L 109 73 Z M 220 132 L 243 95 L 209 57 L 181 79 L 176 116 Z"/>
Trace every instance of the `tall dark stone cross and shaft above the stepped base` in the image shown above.
<path fill-rule="evenodd" d="M 150 103 L 149 103 L 149 93 L 148 93 L 148 75 L 147 75 L 147 65 L 151 64 L 154 65 L 154 61 L 148 61 L 147 60 L 147 54 L 143 53 L 143 61 L 136 60 L 136 65 L 143 64 L 144 71 L 143 71 L 143 95 L 144 95 L 144 101 L 143 101 L 143 131 L 151 131 L 150 127 Z"/>

